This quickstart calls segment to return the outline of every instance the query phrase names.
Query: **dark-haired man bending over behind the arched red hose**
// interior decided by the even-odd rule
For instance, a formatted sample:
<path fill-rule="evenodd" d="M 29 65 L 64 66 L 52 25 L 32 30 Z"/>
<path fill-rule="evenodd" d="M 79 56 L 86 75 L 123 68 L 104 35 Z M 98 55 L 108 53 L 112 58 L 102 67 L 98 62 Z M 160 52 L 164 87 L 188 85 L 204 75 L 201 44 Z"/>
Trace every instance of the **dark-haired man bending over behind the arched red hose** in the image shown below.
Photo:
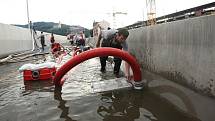
<path fill-rule="evenodd" d="M 129 35 L 127 29 L 119 29 L 119 30 L 103 30 L 99 34 L 98 41 L 96 43 L 96 47 L 113 47 L 117 49 L 123 49 L 124 51 L 128 51 L 128 45 L 126 39 Z M 102 43 L 101 43 L 102 40 Z M 101 43 L 101 44 L 100 44 Z M 106 72 L 106 61 L 108 56 L 100 57 L 101 63 L 101 72 Z M 118 57 L 114 57 L 114 74 L 116 77 L 119 77 L 119 70 L 122 63 L 122 59 Z"/>

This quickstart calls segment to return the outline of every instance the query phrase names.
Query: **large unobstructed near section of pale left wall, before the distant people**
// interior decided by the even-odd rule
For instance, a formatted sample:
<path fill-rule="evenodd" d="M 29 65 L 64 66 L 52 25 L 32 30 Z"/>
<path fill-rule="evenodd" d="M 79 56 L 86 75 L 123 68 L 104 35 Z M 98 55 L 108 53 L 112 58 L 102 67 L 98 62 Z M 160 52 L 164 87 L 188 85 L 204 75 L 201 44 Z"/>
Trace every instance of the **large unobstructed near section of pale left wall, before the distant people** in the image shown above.
<path fill-rule="evenodd" d="M 30 31 L 0 23 L 0 56 L 30 50 L 32 48 Z"/>

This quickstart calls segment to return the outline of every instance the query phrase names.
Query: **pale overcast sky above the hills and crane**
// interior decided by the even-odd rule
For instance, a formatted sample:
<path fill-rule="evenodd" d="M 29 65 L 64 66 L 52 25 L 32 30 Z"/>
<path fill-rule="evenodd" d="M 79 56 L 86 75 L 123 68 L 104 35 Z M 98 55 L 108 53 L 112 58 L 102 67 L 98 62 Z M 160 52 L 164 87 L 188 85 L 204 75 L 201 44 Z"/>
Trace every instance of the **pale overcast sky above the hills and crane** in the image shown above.
<path fill-rule="evenodd" d="M 173 13 L 214 0 L 155 0 L 156 16 Z M 117 27 L 146 19 L 146 0 L 28 0 L 29 17 L 33 22 L 59 21 L 68 25 L 92 28 L 93 21 L 106 20 Z M 26 0 L 0 0 L 0 23 L 27 24 Z"/>

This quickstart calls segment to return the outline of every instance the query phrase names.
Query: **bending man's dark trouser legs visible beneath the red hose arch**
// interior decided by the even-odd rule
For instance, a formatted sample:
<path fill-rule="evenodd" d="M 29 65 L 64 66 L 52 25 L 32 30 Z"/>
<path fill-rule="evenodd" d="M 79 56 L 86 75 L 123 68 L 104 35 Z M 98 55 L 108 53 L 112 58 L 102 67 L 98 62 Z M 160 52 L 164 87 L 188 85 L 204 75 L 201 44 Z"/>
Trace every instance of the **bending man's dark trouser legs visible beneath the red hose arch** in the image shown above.
<path fill-rule="evenodd" d="M 108 59 L 108 56 L 100 57 L 101 70 L 105 70 L 107 59 Z M 122 59 L 118 57 L 114 57 L 113 61 L 114 61 L 114 74 L 118 74 L 122 63 Z"/>

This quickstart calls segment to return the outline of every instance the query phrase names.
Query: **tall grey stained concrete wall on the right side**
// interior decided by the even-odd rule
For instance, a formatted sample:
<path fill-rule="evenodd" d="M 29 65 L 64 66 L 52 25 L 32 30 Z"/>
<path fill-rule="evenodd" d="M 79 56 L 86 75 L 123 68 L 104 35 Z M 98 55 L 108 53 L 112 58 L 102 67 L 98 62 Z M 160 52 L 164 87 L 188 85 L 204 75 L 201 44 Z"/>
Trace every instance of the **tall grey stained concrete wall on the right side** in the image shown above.
<path fill-rule="evenodd" d="M 143 69 L 215 96 L 215 16 L 130 30 Z"/>

